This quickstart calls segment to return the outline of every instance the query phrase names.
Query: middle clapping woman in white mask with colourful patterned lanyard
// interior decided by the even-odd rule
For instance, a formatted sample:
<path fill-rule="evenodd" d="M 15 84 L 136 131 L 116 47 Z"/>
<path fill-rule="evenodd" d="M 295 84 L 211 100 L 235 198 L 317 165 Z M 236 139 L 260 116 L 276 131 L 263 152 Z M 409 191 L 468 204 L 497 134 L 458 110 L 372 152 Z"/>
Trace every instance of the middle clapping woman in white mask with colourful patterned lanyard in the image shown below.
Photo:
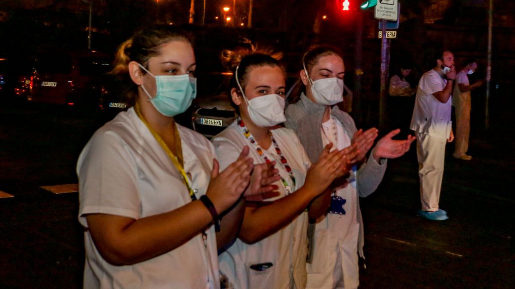
<path fill-rule="evenodd" d="M 353 146 L 329 153 L 329 145 L 312 164 L 295 133 L 279 127 L 285 120 L 285 75 L 278 61 L 255 52 L 242 59 L 249 52 L 227 54 L 228 62 L 241 59 L 232 61 L 230 86 L 238 118 L 212 141 L 221 168 L 249 146 L 254 164 L 273 164 L 278 180 L 275 191 L 237 205 L 245 207 L 242 226 L 219 257 L 220 272 L 230 288 L 304 288 L 308 215 L 325 210 L 317 197 L 348 172 L 358 151 Z"/>

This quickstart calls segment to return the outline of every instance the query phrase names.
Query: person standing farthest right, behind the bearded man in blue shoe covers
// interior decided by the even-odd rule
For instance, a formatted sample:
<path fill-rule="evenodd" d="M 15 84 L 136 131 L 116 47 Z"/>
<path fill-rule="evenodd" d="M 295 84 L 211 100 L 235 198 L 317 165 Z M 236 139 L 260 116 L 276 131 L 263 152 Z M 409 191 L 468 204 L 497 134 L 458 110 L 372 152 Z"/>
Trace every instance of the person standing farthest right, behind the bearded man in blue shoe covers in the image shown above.
<path fill-rule="evenodd" d="M 470 134 L 470 91 L 483 85 L 483 80 L 478 80 L 474 84 L 469 83 L 468 75 L 471 75 L 477 69 L 475 59 L 468 59 L 465 66 L 456 74 L 456 84 L 454 86 L 452 105 L 456 115 L 456 147 L 453 157 L 462 160 L 471 160 L 472 157 L 467 155 L 469 149 Z"/>

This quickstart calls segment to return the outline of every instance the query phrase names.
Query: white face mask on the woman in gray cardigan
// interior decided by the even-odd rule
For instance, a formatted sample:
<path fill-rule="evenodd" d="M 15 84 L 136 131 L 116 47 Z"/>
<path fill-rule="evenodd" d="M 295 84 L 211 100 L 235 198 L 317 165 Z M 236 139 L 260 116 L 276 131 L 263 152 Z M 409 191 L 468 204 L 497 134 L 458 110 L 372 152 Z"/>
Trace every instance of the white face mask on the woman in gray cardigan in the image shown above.
<path fill-rule="evenodd" d="M 344 81 L 337 77 L 322 78 L 313 81 L 307 73 L 306 66 L 304 72 L 308 81 L 311 83 L 311 93 L 319 104 L 333 105 L 344 100 Z"/>

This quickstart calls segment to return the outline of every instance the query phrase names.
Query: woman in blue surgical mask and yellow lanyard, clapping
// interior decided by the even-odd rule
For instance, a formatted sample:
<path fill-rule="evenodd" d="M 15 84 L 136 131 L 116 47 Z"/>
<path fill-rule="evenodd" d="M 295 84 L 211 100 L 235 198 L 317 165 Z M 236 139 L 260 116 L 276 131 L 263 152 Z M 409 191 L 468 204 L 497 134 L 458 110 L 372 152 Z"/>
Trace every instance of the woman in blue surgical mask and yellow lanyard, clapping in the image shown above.
<path fill-rule="evenodd" d="M 241 223 L 227 213 L 242 194 L 273 189 L 248 147 L 219 172 L 212 143 L 175 122 L 195 98 L 195 68 L 192 39 L 174 27 L 136 32 L 118 50 L 129 109 L 77 164 L 84 288 L 219 288 L 217 249 Z"/>

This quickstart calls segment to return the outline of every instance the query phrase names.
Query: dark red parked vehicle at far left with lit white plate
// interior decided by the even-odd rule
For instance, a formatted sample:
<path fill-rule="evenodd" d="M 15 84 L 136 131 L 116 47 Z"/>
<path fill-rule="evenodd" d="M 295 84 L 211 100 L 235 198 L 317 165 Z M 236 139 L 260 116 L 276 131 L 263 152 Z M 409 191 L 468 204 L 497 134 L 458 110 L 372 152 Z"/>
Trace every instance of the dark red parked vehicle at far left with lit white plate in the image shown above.
<path fill-rule="evenodd" d="M 45 49 L 33 59 L 14 92 L 34 103 L 98 107 L 102 77 L 111 69 L 111 58 L 94 50 Z"/>

